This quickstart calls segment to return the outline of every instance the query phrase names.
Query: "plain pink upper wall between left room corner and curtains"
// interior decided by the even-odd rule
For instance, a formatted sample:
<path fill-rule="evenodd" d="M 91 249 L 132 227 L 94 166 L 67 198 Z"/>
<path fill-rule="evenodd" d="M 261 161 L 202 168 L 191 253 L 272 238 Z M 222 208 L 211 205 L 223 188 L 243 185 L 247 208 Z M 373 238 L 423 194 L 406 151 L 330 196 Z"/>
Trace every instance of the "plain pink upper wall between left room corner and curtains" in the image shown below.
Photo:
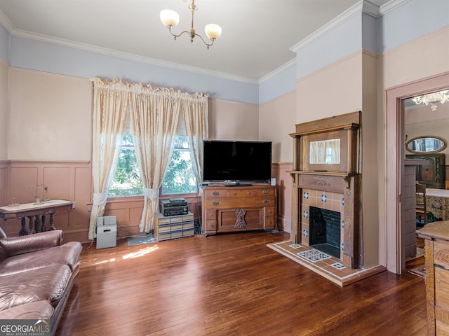
<path fill-rule="evenodd" d="M 87 78 L 11 67 L 9 92 L 9 160 L 91 160 Z"/>

